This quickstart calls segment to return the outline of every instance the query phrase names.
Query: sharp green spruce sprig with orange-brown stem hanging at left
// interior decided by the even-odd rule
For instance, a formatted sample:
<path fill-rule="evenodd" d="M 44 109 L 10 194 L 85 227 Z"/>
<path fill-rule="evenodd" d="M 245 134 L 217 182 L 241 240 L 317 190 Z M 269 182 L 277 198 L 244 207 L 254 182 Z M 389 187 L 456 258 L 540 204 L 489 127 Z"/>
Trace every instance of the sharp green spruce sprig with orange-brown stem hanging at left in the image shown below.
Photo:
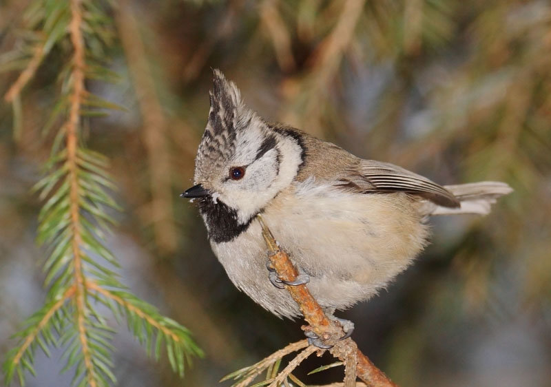
<path fill-rule="evenodd" d="M 35 187 L 43 200 L 38 240 L 48 250 L 48 294 L 15 335 L 19 342 L 3 364 L 6 384 L 17 376 L 23 385 L 27 371 L 34 375 L 37 348 L 50 355 L 54 346 L 63 348 L 64 370 L 74 369 L 74 386 L 114 384 L 114 329 L 102 314 L 104 306 L 119 322 L 126 320 L 147 353 L 158 359 L 166 352 L 181 376 L 191 357 L 201 354 L 184 326 L 160 315 L 120 282 L 113 271 L 116 258 L 105 245 L 114 224 L 110 213 L 118 209 L 110 194 L 116 185 L 107 173 L 107 159 L 85 147 L 81 129 L 83 117 L 118 108 L 86 88 L 87 80 L 114 79 L 103 67 L 113 36 L 110 11 L 102 1 L 33 1 L 25 13 L 21 46 L 10 53 L 10 63 L 23 69 L 5 96 L 16 112 L 21 90 L 53 48 L 66 53 L 66 63 L 59 73 L 59 102 L 45 130 L 61 125 L 45 177 Z"/>

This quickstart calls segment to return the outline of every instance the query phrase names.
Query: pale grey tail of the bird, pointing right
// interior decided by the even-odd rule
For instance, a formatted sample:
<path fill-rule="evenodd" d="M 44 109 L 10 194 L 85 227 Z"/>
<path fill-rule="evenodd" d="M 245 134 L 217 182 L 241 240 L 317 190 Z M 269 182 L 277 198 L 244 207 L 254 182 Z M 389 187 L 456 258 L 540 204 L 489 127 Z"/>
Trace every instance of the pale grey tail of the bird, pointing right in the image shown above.
<path fill-rule="evenodd" d="M 499 181 L 470 182 L 468 184 L 444 185 L 461 202 L 459 208 L 449 208 L 435 205 L 430 215 L 447 215 L 453 213 L 490 213 L 490 207 L 500 196 L 513 190 L 509 185 Z"/>

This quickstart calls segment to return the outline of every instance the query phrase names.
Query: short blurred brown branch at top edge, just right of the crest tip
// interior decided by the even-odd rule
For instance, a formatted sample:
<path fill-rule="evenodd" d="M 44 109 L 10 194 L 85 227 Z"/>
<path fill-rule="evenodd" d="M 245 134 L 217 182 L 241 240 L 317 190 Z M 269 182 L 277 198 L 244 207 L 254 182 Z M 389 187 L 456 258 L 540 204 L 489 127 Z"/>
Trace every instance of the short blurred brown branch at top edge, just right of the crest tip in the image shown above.
<path fill-rule="evenodd" d="M 278 12 L 275 0 L 264 0 L 260 4 L 260 21 L 266 26 L 275 50 L 275 59 L 281 70 L 292 72 L 296 64 L 291 50 L 291 36 Z"/>

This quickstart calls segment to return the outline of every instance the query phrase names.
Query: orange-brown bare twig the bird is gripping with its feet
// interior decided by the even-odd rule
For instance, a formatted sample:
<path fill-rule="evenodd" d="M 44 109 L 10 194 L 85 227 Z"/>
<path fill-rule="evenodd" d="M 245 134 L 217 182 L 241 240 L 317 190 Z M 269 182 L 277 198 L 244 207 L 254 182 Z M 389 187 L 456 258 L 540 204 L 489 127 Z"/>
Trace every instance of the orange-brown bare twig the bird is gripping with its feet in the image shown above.
<path fill-rule="evenodd" d="M 284 281 L 293 281 L 298 276 L 298 271 L 291 263 L 289 255 L 278 247 L 278 243 L 273 238 L 271 231 L 269 231 L 266 224 L 262 220 L 261 216 L 258 216 L 260 225 L 262 226 L 262 237 L 267 244 L 270 252 L 270 262 L 273 269 L 278 273 L 278 276 Z M 340 341 L 344 332 L 340 326 L 337 326 L 334 322 L 329 320 L 325 315 L 322 307 L 315 300 L 310 293 L 306 285 L 288 286 L 285 285 L 285 289 L 289 291 L 293 300 L 297 302 L 304 320 L 311 326 L 314 331 L 322 340 L 327 344 L 334 344 L 333 348 L 329 351 L 331 355 L 339 358 L 344 362 L 344 365 L 348 369 L 345 375 L 345 387 L 355 385 L 355 377 L 351 376 L 350 368 L 353 365 L 350 363 L 351 357 L 357 357 L 356 373 L 357 377 L 360 377 L 371 387 L 396 387 L 397 385 L 388 379 L 386 375 L 377 368 L 366 355 L 364 355 L 358 348 L 352 339 L 346 339 Z M 352 379 L 353 378 L 353 379 Z"/>

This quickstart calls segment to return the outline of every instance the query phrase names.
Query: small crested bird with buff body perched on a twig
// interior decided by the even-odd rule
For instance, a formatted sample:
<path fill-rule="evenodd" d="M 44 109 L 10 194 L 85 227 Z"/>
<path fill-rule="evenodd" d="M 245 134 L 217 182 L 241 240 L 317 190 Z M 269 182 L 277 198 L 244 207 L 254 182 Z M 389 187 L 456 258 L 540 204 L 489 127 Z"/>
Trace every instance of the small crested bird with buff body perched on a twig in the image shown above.
<path fill-rule="evenodd" d="M 430 216 L 485 215 L 512 191 L 494 181 L 438 185 L 271 123 L 247 107 L 220 70 L 209 96 L 195 185 L 180 196 L 196 201 L 231 282 L 279 317 L 301 313 L 282 280 L 267 271 L 259 214 L 298 267 L 292 284 L 307 284 L 349 335 L 353 324 L 335 311 L 370 299 L 410 266 L 428 244 Z M 315 339 L 309 337 L 322 346 Z"/>

